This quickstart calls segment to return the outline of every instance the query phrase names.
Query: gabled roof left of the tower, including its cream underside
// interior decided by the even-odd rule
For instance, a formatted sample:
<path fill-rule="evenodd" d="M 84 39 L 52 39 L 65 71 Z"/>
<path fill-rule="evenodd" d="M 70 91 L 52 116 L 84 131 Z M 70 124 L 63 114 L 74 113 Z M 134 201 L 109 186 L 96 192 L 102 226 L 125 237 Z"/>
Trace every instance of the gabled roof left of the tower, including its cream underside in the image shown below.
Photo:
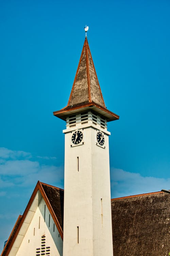
<path fill-rule="evenodd" d="M 54 196 L 53 200 L 56 202 L 56 207 L 54 207 L 55 205 L 55 202 L 54 202 L 53 208 L 51 205 L 52 201 L 50 197 L 51 191 L 53 191 L 53 196 Z M 34 192 L 30 198 L 30 201 L 26 207 L 26 210 L 24 211 L 22 216 L 20 215 L 18 217 L 18 220 L 13 228 L 13 231 L 11 232 L 10 237 L 8 238 L 8 241 L 2 251 L 1 256 L 7 256 L 10 254 L 11 251 L 13 252 L 12 255 L 16 255 L 18 248 L 22 243 L 24 235 L 26 234 L 29 228 L 32 218 L 42 198 L 44 199 L 47 205 L 47 208 L 51 214 L 51 217 L 55 223 L 55 226 L 57 227 L 57 230 L 58 230 L 58 233 L 60 234 L 61 239 L 63 239 L 63 216 L 60 216 L 61 214 L 63 214 L 63 210 L 61 210 L 63 208 L 63 204 L 60 205 L 60 202 L 64 201 L 63 200 L 64 190 L 38 181 L 34 189 Z M 57 205 L 58 205 L 58 209 L 57 209 Z M 58 218 L 56 214 L 58 214 Z"/>

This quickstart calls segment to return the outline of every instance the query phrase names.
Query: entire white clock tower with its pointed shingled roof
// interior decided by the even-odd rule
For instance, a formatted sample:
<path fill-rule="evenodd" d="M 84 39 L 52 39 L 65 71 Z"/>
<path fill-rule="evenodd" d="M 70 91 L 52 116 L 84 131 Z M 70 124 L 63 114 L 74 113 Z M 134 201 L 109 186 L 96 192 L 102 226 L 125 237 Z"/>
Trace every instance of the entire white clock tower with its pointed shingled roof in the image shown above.
<path fill-rule="evenodd" d="M 87 37 L 68 104 L 54 112 L 66 121 L 63 256 L 113 256 L 106 109 Z"/>

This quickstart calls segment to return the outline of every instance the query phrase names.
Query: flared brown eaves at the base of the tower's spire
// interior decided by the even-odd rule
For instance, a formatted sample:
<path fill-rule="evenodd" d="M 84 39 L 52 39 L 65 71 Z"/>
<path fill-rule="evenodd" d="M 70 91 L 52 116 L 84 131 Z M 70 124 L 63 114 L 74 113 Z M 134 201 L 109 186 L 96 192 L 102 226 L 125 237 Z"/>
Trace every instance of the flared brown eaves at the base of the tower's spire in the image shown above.
<path fill-rule="evenodd" d="M 66 121 L 67 116 L 74 115 L 74 114 L 84 112 L 84 111 L 88 111 L 89 109 L 93 110 L 97 114 L 105 117 L 107 122 L 119 119 L 118 115 L 107 110 L 106 108 L 103 108 L 102 106 L 100 106 L 94 102 L 89 102 L 89 103 L 82 104 L 79 106 L 65 107 L 61 110 L 54 111 L 53 115 Z"/>

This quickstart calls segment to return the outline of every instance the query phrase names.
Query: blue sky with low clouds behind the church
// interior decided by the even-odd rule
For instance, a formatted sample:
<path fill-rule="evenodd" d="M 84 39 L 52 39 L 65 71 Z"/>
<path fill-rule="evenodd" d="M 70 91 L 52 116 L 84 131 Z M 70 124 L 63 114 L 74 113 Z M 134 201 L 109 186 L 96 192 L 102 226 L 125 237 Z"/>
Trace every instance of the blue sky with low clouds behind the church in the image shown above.
<path fill-rule="evenodd" d="M 170 189 L 170 2 L 0 1 L 0 251 L 38 180 L 63 188 L 66 106 L 88 42 L 112 197 Z"/>

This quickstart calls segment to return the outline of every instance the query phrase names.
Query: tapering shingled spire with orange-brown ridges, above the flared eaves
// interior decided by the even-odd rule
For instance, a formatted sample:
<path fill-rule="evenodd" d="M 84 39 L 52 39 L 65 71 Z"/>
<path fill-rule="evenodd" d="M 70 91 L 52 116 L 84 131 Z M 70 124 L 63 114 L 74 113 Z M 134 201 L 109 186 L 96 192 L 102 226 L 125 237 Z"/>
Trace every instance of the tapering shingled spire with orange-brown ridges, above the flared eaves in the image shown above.
<path fill-rule="evenodd" d="M 90 102 L 97 103 L 105 108 L 87 37 L 85 37 L 82 54 L 67 106 L 79 106 Z"/>

